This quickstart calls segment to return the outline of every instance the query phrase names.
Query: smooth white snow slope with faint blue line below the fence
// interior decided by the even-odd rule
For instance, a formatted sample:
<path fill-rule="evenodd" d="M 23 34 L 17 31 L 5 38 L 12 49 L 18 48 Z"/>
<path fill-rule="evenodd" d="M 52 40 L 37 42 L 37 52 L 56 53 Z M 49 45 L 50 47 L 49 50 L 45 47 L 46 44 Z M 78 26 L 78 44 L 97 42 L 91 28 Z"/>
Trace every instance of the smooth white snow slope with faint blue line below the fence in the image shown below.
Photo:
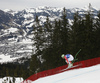
<path fill-rule="evenodd" d="M 100 83 L 100 65 L 69 70 L 32 83 Z"/>

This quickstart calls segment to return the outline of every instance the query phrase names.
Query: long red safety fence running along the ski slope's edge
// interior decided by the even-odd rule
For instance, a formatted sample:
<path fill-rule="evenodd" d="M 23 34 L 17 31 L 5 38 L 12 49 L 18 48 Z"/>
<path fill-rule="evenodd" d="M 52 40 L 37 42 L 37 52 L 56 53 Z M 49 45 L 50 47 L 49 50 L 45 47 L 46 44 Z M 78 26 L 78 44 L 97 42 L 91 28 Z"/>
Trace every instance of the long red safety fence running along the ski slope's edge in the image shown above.
<path fill-rule="evenodd" d="M 90 66 L 97 65 L 97 64 L 100 64 L 100 57 L 93 58 L 93 59 L 88 59 L 88 60 L 84 60 L 84 61 L 75 62 L 73 64 L 75 67 L 67 69 L 65 71 L 68 71 L 68 70 L 71 70 L 71 69 L 90 67 Z M 22 83 L 31 83 L 32 81 L 35 81 L 35 80 L 37 80 L 39 78 L 64 72 L 62 70 L 65 69 L 65 68 L 67 68 L 67 65 L 64 65 L 64 66 L 61 66 L 61 67 L 57 67 L 55 69 L 50 69 L 50 70 L 39 72 L 37 74 L 34 74 L 34 75 L 30 76 L 29 78 L 27 78 Z"/>

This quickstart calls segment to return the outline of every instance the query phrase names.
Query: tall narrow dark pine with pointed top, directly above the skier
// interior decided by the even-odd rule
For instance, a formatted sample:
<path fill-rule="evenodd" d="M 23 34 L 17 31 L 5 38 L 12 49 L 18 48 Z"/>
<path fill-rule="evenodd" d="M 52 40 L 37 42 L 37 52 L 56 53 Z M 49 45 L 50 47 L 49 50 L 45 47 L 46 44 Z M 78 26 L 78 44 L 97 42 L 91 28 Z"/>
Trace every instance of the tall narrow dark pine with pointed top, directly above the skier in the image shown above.
<path fill-rule="evenodd" d="M 61 42 L 62 42 L 62 53 L 68 53 L 68 29 L 69 29 L 69 24 L 67 20 L 67 12 L 66 9 L 63 9 L 62 12 L 62 20 L 61 20 Z"/>

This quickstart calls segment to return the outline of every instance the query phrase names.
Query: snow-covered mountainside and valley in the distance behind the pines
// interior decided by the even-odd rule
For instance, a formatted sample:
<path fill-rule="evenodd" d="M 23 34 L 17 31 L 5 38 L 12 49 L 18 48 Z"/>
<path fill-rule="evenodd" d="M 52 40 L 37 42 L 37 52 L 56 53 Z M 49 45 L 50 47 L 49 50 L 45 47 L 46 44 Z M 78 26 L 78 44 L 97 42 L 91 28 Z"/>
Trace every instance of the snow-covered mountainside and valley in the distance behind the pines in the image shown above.
<path fill-rule="evenodd" d="M 73 20 L 75 12 L 83 16 L 88 9 L 72 8 L 67 10 L 69 22 Z M 98 9 L 91 7 L 94 16 Z M 32 55 L 32 26 L 36 15 L 41 24 L 46 21 L 48 16 L 51 21 L 60 19 L 63 8 L 41 6 L 38 8 L 24 9 L 22 11 L 0 10 L 0 63 L 17 61 L 20 58 Z M 34 48 L 33 48 L 34 49 Z M 20 60 L 19 60 L 20 61 Z"/>

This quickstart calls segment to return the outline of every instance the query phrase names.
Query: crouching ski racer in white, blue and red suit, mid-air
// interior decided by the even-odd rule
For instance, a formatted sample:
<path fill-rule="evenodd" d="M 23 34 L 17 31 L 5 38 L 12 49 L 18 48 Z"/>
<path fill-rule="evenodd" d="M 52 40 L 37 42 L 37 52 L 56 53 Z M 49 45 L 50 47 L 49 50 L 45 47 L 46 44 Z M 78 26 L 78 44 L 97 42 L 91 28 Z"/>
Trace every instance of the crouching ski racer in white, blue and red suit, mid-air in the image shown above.
<path fill-rule="evenodd" d="M 62 54 L 61 57 L 65 59 L 66 63 L 68 64 L 68 68 L 73 66 L 73 63 L 71 61 L 74 60 L 74 57 L 71 54 Z"/>

